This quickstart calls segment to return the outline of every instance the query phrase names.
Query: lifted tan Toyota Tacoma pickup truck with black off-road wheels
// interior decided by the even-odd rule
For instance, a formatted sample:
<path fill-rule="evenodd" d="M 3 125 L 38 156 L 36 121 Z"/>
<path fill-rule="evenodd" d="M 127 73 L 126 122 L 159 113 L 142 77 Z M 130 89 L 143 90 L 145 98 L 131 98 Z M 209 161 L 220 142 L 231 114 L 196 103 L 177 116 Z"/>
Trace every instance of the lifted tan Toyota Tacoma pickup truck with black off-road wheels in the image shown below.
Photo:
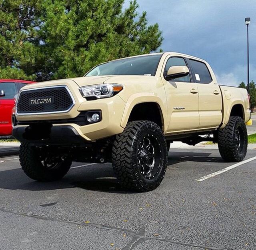
<path fill-rule="evenodd" d="M 173 141 L 218 142 L 224 160 L 243 160 L 250 109 L 246 90 L 218 85 L 206 61 L 165 52 L 26 86 L 15 116 L 30 178 L 58 180 L 73 161 L 112 162 L 122 186 L 148 191 L 164 178 Z"/>

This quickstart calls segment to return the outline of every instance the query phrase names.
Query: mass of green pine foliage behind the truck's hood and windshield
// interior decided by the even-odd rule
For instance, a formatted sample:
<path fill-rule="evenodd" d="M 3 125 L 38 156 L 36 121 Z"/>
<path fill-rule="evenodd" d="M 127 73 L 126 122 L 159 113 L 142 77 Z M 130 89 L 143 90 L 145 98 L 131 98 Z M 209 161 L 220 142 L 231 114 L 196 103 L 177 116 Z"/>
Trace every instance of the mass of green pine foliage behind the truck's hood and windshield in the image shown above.
<path fill-rule="evenodd" d="M 0 76 L 51 80 L 84 75 L 116 58 L 156 52 L 158 24 L 136 0 L 0 0 Z"/>

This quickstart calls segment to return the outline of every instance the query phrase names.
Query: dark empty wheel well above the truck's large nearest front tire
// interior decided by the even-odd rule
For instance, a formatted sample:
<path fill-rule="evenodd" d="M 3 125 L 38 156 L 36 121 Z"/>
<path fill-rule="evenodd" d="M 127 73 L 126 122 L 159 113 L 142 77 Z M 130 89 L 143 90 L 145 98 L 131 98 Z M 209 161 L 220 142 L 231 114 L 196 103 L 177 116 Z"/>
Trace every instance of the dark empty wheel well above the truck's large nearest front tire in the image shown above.
<path fill-rule="evenodd" d="M 164 129 L 164 122 L 160 106 L 156 102 L 143 102 L 136 104 L 130 113 L 128 122 L 147 120 L 155 122 Z"/>

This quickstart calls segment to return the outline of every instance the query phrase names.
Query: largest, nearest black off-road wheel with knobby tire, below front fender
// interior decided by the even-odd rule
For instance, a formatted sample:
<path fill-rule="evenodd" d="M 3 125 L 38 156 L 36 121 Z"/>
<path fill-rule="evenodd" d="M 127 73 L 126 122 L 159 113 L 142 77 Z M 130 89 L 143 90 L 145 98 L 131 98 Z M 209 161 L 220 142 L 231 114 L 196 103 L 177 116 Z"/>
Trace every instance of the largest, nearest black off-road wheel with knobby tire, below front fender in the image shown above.
<path fill-rule="evenodd" d="M 112 165 L 123 188 L 146 192 L 157 188 L 167 167 L 166 140 L 154 122 L 128 122 L 116 136 Z"/>

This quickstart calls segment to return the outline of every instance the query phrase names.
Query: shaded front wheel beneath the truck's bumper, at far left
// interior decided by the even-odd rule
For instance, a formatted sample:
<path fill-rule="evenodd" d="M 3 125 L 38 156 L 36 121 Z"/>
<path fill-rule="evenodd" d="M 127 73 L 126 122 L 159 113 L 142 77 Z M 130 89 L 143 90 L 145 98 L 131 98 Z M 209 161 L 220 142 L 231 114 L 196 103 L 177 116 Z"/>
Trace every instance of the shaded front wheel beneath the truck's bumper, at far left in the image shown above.
<path fill-rule="evenodd" d="M 58 157 L 49 157 L 42 150 L 28 143 L 20 145 L 20 165 L 31 179 L 40 182 L 60 180 L 70 169 L 72 162 Z"/>

